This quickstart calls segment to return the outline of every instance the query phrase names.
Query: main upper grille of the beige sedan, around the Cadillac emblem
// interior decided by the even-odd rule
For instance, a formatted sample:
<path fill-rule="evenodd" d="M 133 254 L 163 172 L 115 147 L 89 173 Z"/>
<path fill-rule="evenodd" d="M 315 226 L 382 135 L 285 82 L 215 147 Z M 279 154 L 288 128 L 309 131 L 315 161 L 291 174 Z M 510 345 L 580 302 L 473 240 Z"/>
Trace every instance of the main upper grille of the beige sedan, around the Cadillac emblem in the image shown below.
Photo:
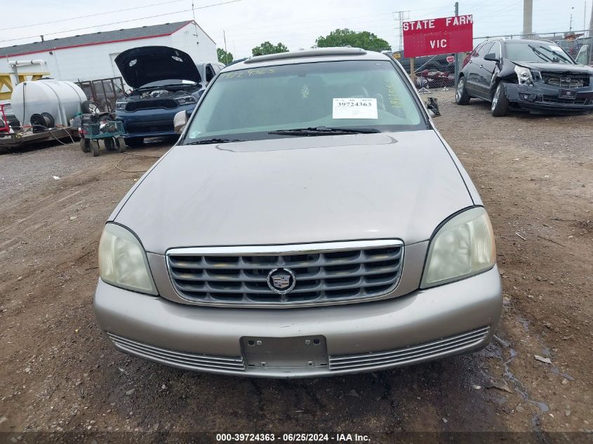
<path fill-rule="evenodd" d="M 262 247 L 178 248 L 167 264 L 178 294 L 196 302 L 307 304 L 378 297 L 399 281 L 401 241 L 353 241 Z M 289 269 L 295 286 L 280 295 L 268 285 Z"/>

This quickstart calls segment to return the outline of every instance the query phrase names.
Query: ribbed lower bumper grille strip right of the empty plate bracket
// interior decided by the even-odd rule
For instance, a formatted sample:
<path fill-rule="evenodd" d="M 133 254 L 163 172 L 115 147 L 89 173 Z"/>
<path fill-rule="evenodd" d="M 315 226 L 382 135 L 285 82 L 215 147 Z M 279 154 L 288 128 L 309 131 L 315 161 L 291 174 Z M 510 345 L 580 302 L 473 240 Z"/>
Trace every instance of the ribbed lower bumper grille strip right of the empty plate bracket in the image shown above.
<path fill-rule="evenodd" d="M 438 358 L 441 354 L 463 351 L 488 336 L 489 327 L 477 328 L 459 335 L 449 336 L 424 344 L 401 349 L 369 351 L 368 353 L 329 356 L 330 370 L 356 370 L 380 365 L 403 365 L 413 361 Z"/>

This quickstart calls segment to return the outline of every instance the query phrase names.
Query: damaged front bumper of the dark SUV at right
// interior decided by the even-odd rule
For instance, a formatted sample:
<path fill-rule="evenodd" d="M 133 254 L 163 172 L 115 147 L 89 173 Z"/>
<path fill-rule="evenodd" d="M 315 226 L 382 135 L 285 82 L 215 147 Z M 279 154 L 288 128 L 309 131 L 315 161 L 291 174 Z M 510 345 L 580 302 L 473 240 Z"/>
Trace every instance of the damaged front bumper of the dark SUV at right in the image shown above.
<path fill-rule="evenodd" d="M 593 110 L 593 87 L 571 88 L 574 100 L 559 98 L 559 87 L 536 82 L 534 85 L 505 83 L 512 106 L 532 112 L 585 112 Z"/>

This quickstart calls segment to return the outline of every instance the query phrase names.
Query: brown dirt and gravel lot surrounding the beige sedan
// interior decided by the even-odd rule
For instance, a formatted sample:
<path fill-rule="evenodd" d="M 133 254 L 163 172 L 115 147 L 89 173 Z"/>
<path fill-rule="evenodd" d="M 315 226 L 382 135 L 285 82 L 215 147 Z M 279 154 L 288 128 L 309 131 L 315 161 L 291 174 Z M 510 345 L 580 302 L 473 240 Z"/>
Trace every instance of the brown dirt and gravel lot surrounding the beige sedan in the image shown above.
<path fill-rule="evenodd" d="M 108 431 L 380 433 L 374 442 L 397 432 L 530 431 L 512 436 L 590 439 L 542 432 L 593 429 L 593 114 L 495 119 L 485 102 L 458 107 L 452 90 L 437 96 L 443 116 L 435 121 L 496 234 L 505 307 L 484 351 L 296 381 L 128 357 L 107 343 L 91 299 L 102 224 L 140 173 L 114 168 L 122 154 L 93 158 L 74 144 L 3 154 L 0 431 L 9 433 L 0 439 L 25 441 L 27 431 L 54 438 L 75 431 L 86 433 L 79 442 L 95 443 L 113 442 L 93 434 Z M 170 145 L 135 153 L 159 156 Z M 155 160 L 125 156 L 119 167 L 145 170 Z"/>

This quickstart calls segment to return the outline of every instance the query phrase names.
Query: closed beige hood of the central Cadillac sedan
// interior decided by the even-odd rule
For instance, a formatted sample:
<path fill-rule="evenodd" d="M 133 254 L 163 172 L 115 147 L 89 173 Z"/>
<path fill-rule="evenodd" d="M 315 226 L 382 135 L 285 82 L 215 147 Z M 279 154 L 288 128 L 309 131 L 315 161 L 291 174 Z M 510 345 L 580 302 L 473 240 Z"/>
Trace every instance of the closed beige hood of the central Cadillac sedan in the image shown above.
<path fill-rule="evenodd" d="M 173 147 L 115 217 L 145 249 L 430 238 L 472 206 L 434 130 Z"/>

